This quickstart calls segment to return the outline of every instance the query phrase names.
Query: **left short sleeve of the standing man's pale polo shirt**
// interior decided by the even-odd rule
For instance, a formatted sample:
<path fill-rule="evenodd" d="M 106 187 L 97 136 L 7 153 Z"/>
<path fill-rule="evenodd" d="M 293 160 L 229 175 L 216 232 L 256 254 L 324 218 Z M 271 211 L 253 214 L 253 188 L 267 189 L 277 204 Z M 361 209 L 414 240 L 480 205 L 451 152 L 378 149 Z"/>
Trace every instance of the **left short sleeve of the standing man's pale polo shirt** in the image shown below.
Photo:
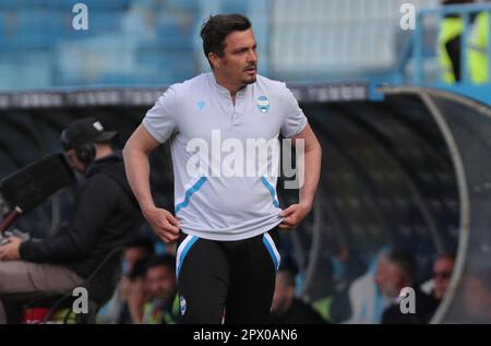
<path fill-rule="evenodd" d="M 143 126 L 160 143 L 167 141 L 177 128 L 176 90 L 170 86 L 143 118 Z"/>

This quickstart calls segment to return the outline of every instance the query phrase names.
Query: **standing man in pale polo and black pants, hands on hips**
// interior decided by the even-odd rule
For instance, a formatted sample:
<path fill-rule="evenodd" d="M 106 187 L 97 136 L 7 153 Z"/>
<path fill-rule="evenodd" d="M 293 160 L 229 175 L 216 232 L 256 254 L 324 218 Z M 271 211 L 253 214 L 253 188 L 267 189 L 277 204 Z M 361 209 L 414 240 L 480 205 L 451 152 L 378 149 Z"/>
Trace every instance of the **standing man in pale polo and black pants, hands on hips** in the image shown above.
<path fill-rule="evenodd" d="M 321 147 L 285 84 L 256 74 L 256 44 L 247 17 L 211 16 L 201 37 L 212 73 L 171 85 L 157 100 L 124 147 L 127 174 L 156 234 L 165 242 L 178 240 L 183 322 L 221 323 L 225 315 L 226 323 L 265 323 L 279 264 L 273 239 L 277 229 L 297 227 L 310 212 Z M 254 168 L 253 174 L 231 177 L 229 171 L 216 174 L 220 153 L 213 150 L 220 142 L 217 138 L 224 140 L 225 151 L 231 151 L 226 144 L 242 148 L 250 141 L 277 144 L 279 134 L 291 138 L 294 144 L 304 144 L 300 201 L 285 210 L 276 199 L 276 178 Z M 148 154 L 167 140 L 172 152 L 176 216 L 155 206 L 148 183 Z M 196 144 L 203 150 L 193 150 Z M 199 174 L 192 171 L 196 155 Z M 261 167 L 277 167 L 271 151 L 265 157 Z M 251 162 L 255 163 L 242 157 L 230 166 L 240 170 Z M 212 174 L 206 169 L 209 166 Z"/>

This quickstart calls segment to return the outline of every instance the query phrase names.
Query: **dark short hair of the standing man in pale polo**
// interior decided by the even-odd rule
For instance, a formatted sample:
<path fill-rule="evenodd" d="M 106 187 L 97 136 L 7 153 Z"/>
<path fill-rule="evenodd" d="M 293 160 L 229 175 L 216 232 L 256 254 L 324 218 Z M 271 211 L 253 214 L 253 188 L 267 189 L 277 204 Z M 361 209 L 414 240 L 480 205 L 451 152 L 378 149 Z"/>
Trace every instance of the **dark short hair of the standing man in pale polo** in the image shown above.
<path fill-rule="evenodd" d="M 203 39 L 203 51 L 206 59 L 208 59 L 209 52 L 223 57 L 225 38 L 232 32 L 244 32 L 249 28 L 251 28 L 251 22 L 242 14 L 211 15 L 201 26 L 200 33 L 200 36 Z M 209 59 L 208 62 L 213 68 Z"/>

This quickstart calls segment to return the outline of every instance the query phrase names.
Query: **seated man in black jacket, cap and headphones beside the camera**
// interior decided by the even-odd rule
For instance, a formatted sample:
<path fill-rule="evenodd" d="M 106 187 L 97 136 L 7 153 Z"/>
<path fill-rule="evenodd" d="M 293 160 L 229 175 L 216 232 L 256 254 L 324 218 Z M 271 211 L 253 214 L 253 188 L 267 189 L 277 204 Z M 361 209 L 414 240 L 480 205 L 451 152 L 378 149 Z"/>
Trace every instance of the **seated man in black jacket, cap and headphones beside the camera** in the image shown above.
<path fill-rule="evenodd" d="M 0 297 L 9 305 L 10 322 L 19 319 L 17 303 L 40 294 L 65 293 L 82 284 L 108 252 L 131 241 L 142 217 L 128 186 L 121 153 L 94 118 L 74 121 L 61 141 L 70 166 L 83 172 L 70 225 L 53 237 L 0 247 Z M 0 302 L 0 323 L 5 323 Z"/>

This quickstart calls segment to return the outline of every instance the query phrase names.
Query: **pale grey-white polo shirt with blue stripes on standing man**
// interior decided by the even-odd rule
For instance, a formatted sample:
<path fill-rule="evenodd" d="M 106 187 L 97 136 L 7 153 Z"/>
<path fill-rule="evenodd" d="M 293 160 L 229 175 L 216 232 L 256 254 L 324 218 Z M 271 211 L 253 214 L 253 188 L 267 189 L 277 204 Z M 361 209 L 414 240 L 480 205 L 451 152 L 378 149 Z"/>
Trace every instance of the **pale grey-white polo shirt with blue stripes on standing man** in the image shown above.
<path fill-rule="evenodd" d="M 235 105 L 213 73 L 171 85 L 143 126 L 158 142 L 170 140 L 181 230 L 229 241 L 278 225 L 278 135 L 291 138 L 306 124 L 285 83 L 261 75 Z"/>

